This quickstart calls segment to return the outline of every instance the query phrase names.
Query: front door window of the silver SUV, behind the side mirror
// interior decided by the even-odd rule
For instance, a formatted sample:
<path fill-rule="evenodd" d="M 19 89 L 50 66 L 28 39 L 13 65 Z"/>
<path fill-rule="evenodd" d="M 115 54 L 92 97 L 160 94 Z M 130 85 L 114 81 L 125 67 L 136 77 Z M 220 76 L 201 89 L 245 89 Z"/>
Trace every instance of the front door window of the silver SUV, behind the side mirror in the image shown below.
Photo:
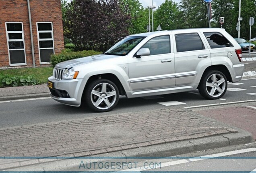
<path fill-rule="evenodd" d="M 142 48 L 149 48 L 150 55 L 170 53 L 170 36 L 152 38 Z"/>

